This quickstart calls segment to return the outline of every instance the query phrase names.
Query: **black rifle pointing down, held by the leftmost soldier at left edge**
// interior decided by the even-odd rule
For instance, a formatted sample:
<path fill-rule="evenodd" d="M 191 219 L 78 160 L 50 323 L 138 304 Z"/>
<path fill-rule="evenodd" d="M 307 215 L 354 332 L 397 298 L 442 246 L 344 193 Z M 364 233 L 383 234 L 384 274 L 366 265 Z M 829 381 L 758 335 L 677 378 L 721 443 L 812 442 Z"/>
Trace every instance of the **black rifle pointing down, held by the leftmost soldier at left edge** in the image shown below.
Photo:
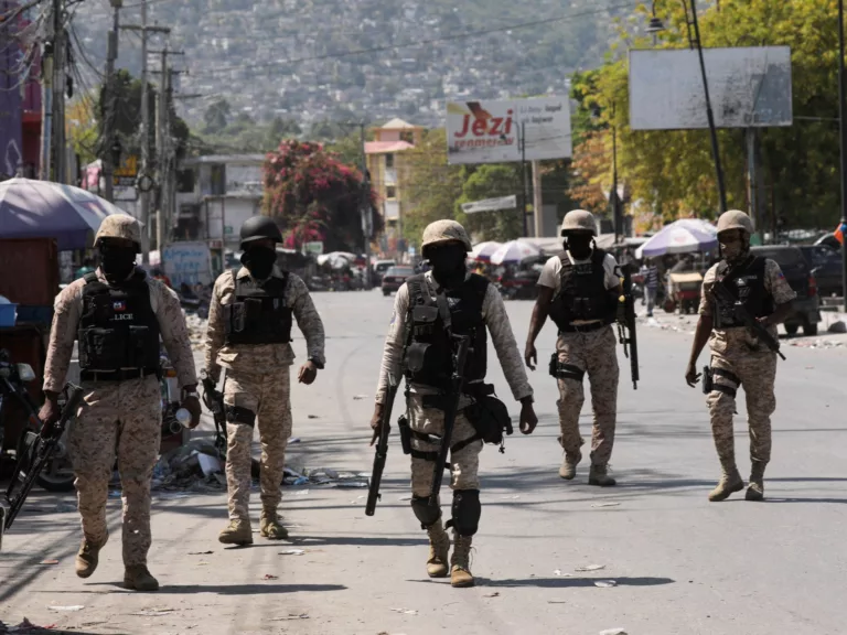
<path fill-rule="evenodd" d="M 14 466 L 12 482 L 6 491 L 3 499 L 0 501 L 0 548 L 2 548 L 3 531 L 9 529 L 14 523 L 18 513 L 23 507 L 26 496 L 32 489 L 44 466 L 50 463 L 58 449 L 58 440 L 67 427 L 67 422 L 76 416 L 76 410 L 83 400 L 83 389 L 73 384 L 65 386 L 65 405 L 58 421 L 53 426 L 44 426 L 40 421 L 39 433 L 25 433 L 23 449 L 18 463 Z"/>

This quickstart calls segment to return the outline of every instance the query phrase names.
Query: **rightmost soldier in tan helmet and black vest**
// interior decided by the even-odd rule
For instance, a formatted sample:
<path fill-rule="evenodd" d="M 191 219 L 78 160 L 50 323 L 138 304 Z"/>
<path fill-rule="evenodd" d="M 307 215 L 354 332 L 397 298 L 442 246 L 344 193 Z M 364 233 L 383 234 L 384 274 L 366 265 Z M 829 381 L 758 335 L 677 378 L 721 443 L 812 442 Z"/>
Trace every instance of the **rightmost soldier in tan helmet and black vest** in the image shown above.
<path fill-rule="evenodd" d="M 776 378 L 776 353 L 744 326 L 738 318 L 737 303 L 776 338 L 776 325 L 791 314 L 796 293 L 785 280 L 780 266 L 768 258 L 750 254 L 753 223 L 737 209 L 718 219 L 718 241 L 722 260 L 706 272 L 700 295 L 700 319 L 691 345 L 685 379 L 697 384 L 697 357 L 706 342 L 711 345 L 711 389 L 706 402 L 711 416 L 711 433 L 720 460 L 718 486 L 709 501 L 725 501 L 740 492 L 744 482 L 736 466 L 732 415 L 736 392 L 744 387 L 750 460 L 752 470 L 747 488 L 748 501 L 764 498 L 764 467 L 771 460 L 771 415 L 776 409 L 773 383 Z M 721 286 L 729 293 L 718 293 Z M 729 299 L 731 298 L 731 302 Z M 708 389 L 707 384 L 707 389 Z"/>

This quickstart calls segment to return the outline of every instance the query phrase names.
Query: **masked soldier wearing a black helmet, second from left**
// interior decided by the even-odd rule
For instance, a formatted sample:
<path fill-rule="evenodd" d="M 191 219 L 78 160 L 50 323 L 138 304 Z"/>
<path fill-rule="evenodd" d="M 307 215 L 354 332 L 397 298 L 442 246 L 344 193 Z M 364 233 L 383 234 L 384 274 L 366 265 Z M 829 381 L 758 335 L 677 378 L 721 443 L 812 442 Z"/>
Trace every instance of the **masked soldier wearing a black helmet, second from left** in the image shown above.
<path fill-rule="evenodd" d="M 267 216 L 254 216 L 242 225 L 242 263 L 215 282 L 206 332 L 206 372 L 217 383 L 221 367 L 226 406 L 226 483 L 229 524 L 218 539 L 228 545 L 253 542 L 249 498 L 253 429 L 261 440 L 260 535 L 288 538 L 277 516 L 282 498 L 279 486 L 286 446 L 291 435 L 289 372 L 292 318 L 305 335 L 308 360 L 298 375 L 311 384 L 323 368 L 323 323 L 305 283 L 277 265 L 277 243 L 282 235 Z"/>

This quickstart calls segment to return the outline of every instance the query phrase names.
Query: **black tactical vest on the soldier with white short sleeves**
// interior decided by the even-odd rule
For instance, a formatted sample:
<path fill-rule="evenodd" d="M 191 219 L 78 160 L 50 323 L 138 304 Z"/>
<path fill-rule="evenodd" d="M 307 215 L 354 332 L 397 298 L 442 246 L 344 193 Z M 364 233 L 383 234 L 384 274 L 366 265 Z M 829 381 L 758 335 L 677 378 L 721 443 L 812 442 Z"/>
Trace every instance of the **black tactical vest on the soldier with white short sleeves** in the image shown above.
<path fill-rule="evenodd" d="M 559 292 L 550 302 L 550 319 L 559 331 L 571 331 L 577 320 L 614 322 L 618 309 L 615 293 L 605 288 L 605 251 L 594 249 L 588 262 L 577 265 L 567 252 L 559 254 Z"/>

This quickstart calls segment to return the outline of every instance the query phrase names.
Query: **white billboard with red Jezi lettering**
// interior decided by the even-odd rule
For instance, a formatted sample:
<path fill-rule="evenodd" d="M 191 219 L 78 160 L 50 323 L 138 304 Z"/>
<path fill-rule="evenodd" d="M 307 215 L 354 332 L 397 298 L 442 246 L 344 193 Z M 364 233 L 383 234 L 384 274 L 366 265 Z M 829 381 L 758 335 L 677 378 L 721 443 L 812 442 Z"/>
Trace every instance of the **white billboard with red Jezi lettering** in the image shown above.
<path fill-rule="evenodd" d="M 447 103 L 448 163 L 521 161 L 522 142 L 527 161 L 571 157 L 568 98 Z"/>

